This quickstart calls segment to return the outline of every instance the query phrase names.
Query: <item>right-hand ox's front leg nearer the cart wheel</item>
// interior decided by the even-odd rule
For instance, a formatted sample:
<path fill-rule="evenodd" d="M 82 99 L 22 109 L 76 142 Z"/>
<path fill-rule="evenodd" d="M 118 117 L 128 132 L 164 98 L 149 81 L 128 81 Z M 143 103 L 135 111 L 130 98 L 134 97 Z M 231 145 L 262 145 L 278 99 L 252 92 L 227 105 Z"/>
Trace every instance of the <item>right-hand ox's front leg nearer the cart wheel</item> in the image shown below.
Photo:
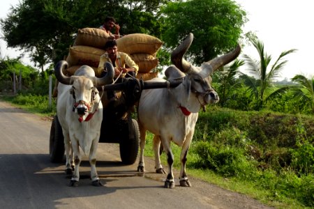
<path fill-rule="evenodd" d="M 165 186 L 164 187 L 172 189 L 175 187 L 174 176 L 173 176 L 173 172 L 172 172 L 174 156 L 173 156 L 172 150 L 170 148 L 170 141 L 163 140 L 162 142 L 163 142 L 163 148 L 164 148 L 165 153 L 167 155 L 167 163 L 168 163 L 168 175 L 167 175 L 167 179 L 165 180 Z"/>

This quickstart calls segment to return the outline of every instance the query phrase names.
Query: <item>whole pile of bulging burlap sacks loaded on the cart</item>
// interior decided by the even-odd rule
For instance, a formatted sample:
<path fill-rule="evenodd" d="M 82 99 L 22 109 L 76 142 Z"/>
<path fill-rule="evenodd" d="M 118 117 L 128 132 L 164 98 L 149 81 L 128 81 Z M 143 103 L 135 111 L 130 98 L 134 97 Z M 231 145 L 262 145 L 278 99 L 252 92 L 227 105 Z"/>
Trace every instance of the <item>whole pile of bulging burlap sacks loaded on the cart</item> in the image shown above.
<path fill-rule="evenodd" d="M 64 74 L 71 76 L 82 65 L 89 65 L 98 72 L 100 56 L 105 53 L 105 43 L 111 40 L 102 29 L 84 28 L 79 29 L 73 47 L 70 47 L 66 61 L 68 68 Z M 154 36 L 144 33 L 133 33 L 117 39 L 119 52 L 125 52 L 139 65 L 137 78 L 143 80 L 158 76 L 158 72 L 151 72 L 158 65 L 156 54 L 163 42 Z M 54 86 L 54 97 L 57 97 L 57 84 Z"/>

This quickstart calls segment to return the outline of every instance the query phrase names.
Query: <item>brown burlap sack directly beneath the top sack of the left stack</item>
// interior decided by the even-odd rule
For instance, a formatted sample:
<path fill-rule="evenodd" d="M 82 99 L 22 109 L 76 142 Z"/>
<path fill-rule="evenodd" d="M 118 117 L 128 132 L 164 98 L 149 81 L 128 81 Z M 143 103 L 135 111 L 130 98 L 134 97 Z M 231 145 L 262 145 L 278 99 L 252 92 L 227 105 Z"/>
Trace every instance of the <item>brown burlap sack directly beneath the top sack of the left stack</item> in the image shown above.
<path fill-rule="evenodd" d="M 89 65 L 98 68 L 99 59 L 105 50 L 88 46 L 70 47 L 66 61 L 69 66 L 73 65 Z"/>

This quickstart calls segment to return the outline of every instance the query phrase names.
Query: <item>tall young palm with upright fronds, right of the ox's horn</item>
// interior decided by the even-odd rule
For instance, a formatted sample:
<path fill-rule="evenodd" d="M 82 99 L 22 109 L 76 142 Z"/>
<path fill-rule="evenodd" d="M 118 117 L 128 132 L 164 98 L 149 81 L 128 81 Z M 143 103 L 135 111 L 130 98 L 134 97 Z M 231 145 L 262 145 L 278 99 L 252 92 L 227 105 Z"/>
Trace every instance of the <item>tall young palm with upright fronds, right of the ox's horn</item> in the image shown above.
<path fill-rule="evenodd" d="M 257 82 L 251 81 L 251 77 L 246 76 L 246 84 L 248 84 L 248 90 L 251 91 L 257 102 L 256 109 L 259 110 L 263 107 L 264 103 L 270 98 L 273 98 L 278 93 L 287 91 L 287 88 L 280 88 L 277 91 L 271 92 L 271 87 L 274 86 L 276 78 L 279 77 L 283 66 L 287 63 L 285 56 L 297 51 L 297 49 L 290 49 L 288 51 L 281 52 L 278 59 L 273 65 L 270 66 L 271 55 L 264 52 L 264 44 L 256 37 L 248 36 L 248 39 L 253 44 L 260 56 L 260 60 L 254 60 L 250 56 L 244 54 L 244 60 L 248 65 L 248 70 L 257 79 Z"/>

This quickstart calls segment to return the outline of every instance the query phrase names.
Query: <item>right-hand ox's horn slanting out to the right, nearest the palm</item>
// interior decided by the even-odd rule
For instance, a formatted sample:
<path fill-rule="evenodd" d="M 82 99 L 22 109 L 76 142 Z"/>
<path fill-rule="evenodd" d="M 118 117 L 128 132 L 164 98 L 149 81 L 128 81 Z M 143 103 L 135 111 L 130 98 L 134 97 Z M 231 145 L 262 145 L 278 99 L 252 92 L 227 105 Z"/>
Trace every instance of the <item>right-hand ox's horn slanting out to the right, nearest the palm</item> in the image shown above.
<path fill-rule="evenodd" d="M 222 67 L 223 65 L 227 65 L 227 63 L 230 63 L 231 61 L 236 59 L 237 56 L 239 56 L 240 52 L 241 52 L 241 47 L 240 45 L 237 45 L 237 47 L 232 52 L 229 52 L 223 56 L 216 57 L 212 59 L 211 61 L 207 61 L 206 63 L 211 65 L 211 68 L 212 68 L 211 72 L 214 72 L 215 70 Z"/>

